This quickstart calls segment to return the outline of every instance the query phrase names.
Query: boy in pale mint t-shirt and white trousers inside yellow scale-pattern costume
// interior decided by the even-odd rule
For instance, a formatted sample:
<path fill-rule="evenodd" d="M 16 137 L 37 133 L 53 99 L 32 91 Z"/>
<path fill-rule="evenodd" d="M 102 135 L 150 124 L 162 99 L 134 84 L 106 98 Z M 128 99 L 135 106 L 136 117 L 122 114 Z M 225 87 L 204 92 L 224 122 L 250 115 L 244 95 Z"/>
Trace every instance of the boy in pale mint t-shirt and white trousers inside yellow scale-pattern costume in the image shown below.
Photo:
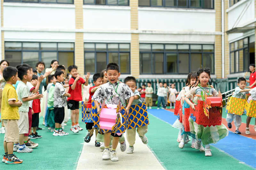
<path fill-rule="evenodd" d="M 233 93 L 232 97 L 235 98 L 240 98 L 240 99 L 245 99 L 246 94 L 249 93 L 250 90 L 252 89 L 244 89 L 244 87 L 246 86 L 246 79 L 241 77 L 238 78 L 237 81 L 237 87 L 235 88 L 235 92 Z M 241 134 L 241 132 L 239 131 L 239 127 L 241 126 L 242 123 L 242 118 L 240 115 L 235 115 L 233 113 L 228 113 L 227 114 L 227 118 L 226 121 L 228 122 L 228 128 L 232 128 L 231 122 L 234 120 L 234 124 L 236 127 L 236 134 Z"/>

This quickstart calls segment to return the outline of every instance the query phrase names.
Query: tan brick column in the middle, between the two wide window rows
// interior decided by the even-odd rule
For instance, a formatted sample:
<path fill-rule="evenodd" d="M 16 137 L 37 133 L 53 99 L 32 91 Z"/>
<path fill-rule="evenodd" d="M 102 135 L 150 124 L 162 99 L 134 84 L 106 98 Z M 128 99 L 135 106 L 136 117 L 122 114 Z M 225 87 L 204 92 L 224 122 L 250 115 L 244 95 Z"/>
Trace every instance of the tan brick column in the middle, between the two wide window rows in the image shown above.
<path fill-rule="evenodd" d="M 130 0 L 131 6 L 131 30 L 138 29 L 138 0 Z M 140 50 L 139 34 L 131 34 L 131 74 L 135 78 L 140 75 Z"/>

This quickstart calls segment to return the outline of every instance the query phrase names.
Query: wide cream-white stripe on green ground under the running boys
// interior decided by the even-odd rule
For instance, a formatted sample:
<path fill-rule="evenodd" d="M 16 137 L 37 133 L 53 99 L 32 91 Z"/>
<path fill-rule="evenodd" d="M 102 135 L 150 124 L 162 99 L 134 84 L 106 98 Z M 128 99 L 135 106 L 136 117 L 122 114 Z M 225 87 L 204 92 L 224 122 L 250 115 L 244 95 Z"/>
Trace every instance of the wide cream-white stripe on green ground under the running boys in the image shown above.
<path fill-rule="evenodd" d="M 126 134 L 124 134 L 126 140 L 126 150 L 129 144 L 126 139 Z M 136 141 L 134 144 L 134 152 L 132 154 L 127 154 L 126 151 L 121 152 L 120 144 L 118 144 L 116 151 L 119 161 L 113 162 L 109 160 L 101 160 L 102 152 L 99 147 L 94 146 L 95 134 L 93 134 L 90 143 L 84 143 L 84 147 L 80 158 L 77 163 L 76 170 L 83 169 L 146 169 L 146 170 L 164 170 L 164 167 L 156 159 L 152 151 L 148 148 L 146 144 L 143 144 L 139 135 L 136 133 Z"/>

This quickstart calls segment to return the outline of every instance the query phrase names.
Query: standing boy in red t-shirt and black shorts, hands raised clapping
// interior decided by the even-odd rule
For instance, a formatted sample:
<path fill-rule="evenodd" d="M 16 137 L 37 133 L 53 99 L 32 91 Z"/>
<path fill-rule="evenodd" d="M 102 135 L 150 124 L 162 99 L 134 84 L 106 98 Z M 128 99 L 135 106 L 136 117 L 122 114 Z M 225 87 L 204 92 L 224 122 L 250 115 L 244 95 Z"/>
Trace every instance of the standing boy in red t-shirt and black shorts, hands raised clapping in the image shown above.
<path fill-rule="evenodd" d="M 79 101 L 82 101 L 82 84 L 88 85 L 88 79 L 90 77 L 90 73 L 87 72 L 85 76 L 86 81 L 80 77 L 77 73 L 77 66 L 70 65 L 68 67 L 68 71 L 71 74 L 71 78 L 69 79 L 68 85 L 68 93 L 71 95 L 68 97 L 68 108 L 71 110 L 71 128 L 70 130 L 74 133 L 79 132 L 79 130 L 83 130 L 83 128 L 79 127 L 78 119 L 79 119 Z"/>

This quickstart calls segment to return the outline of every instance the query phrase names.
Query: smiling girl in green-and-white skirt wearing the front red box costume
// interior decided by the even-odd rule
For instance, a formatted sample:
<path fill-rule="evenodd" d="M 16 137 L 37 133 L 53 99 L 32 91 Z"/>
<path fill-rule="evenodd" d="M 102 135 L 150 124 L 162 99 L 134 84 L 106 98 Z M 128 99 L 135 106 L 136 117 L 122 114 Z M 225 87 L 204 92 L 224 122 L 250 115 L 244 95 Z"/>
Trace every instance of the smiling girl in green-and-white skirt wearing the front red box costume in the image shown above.
<path fill-rule="evenodd" d="M 185 93 L 185 101 L 188 103 L 188 105 L 195 110 L 195 103 L 197 103 L 198 100 L 203 100 L 201 97 L 201 92 L 208 93 L 211 97 L 218 97 L 221 96 L 221 93 L 219 93 L 210 87 L 209 79 L 210 79 L 211 71 L 209 68 L 205 69 L 198 69 L 197 71 L 197 80 L 199 80 L 199 84 L 195 87 L 194 86 L 190 88 L 190 91 Z M 208 91 L 209 90 L 209 91 Z M 195 95 L 195 96 L 194 96 Z M 194 98 L 193 98 L 194 96 Z M 189 100 L 192 99 L 193 103 Z M 197 139 L 195 142 L 195 149 L 198 150 L 201 146 L 201 141 L 205 145 L 205 156 L 212 156 L 210 144 L 217 143 L 220 139 L 228 136 L 228 129 L 223 124 L 218 126 L 206 126 L 198 125 L 196 122 L 193 121 L 192 118 L 188 118 L 190 125 L 190 133 L 195 134 L 195 138 Z M 182 140 L 180 143 L 184 144 L 184 140 Z"/>

